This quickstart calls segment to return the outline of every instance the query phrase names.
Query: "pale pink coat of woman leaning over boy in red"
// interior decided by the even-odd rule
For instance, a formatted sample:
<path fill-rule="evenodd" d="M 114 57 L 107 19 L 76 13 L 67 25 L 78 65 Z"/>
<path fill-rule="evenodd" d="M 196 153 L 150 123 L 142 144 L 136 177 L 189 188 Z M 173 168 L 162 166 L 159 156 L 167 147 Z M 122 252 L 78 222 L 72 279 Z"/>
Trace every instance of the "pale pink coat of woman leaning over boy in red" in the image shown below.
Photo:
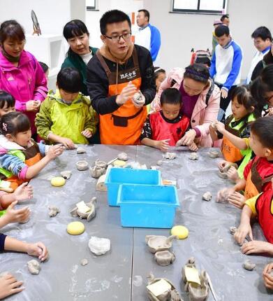
<path fill-rule="evenodd" d="M 179 87 L 183 80 L 184 69 L 182 68 L 175 68 L 168 73 L 168 77 L 161 83 L 159 90 L 158 90 L 158 99 L 161 97 L 161 93 L 163 90 L 170 87 L 172 80 L 175 80 L 175 87 L 179 90 Z M 212 85 L 212 83 L 210 83 Z M 210 87 L 209 85 L 209 87 Z M 193 109 L 193 115 L 191 116 L 191 127 L 197 127 L 200 130 L 201 137 L 198 141 L 198 146 L 203 147 L 211 147 L 212 146 L 212 139 L 209 135 L 209 125 L 214 123 L 217 120 L 217 115 L 219 111 L 219 104 L 220 104 L 220 90 L 219 87 L 214 85 L 214 90 L 212 92 L 212 96 L 209 98 L 209 102 L 206 106 L 206 94 L 209 91 L 209 87 L 206 90 L 200 93 L 198 100 L 195 104 Z"/>

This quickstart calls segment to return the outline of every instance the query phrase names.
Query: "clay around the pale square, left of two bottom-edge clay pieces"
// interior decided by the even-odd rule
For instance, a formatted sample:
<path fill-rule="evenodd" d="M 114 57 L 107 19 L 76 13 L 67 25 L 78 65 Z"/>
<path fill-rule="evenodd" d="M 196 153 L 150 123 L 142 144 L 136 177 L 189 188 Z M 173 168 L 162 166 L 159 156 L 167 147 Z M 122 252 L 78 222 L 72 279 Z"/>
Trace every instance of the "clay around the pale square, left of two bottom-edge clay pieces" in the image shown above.
<path fill-rule="evenodd" d="M 148 285 L 146 286 L 146 289 L 150 301 L 183 301 L 182 297 L 180 297 L 177 289 L 172 282 L 170 282 L 170 280 L 165 278 L 155 278 L 152 273 L 147 276 L 147 279 Z M 154 295 L 152 291 L 152 285 L 158 281 L 165 282 L 169 288 L 167 288 L 167 290 L 160 295 Z"/>

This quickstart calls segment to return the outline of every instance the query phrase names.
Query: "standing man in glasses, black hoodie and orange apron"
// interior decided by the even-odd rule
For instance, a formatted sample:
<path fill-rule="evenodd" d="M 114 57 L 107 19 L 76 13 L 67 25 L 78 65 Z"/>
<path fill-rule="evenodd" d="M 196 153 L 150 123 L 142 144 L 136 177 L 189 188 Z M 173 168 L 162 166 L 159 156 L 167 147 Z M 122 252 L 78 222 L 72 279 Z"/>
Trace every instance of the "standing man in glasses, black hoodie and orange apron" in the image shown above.
<path fill-rule="evenodd" d="M 133 45 L 131 20 L 109 10 L 101 20 L 103 46 L 87 65 L 87 90 L 100 117 L 102 144 L 139 144 L 145 106 L 156 94 L 149 50 Z"/>

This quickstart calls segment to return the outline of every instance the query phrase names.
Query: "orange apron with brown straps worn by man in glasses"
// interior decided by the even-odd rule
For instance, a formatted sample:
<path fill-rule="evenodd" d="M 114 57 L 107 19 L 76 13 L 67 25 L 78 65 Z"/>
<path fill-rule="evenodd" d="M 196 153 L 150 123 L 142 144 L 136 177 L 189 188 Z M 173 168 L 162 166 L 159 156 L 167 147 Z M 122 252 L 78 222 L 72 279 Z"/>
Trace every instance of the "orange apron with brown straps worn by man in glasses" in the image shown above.
<path fill-rule="evenodd" d="M 141 75 L 138 64 L 138 54 L 133 48 L 133 68 L 119 72 L 111 72 L 103 56 L 96 52 L 109 80 L 108 96 L 121 93 L 121 90 L 131 81 L 140 90 Z M 117 65 L 118 67 L 118 65 Z M 140 134 L 147 118 L 147 110 L 135 108 L 131 99 L 109 114 L 100 115 L 100 134 L 102 144 L 140 144 Z"/>

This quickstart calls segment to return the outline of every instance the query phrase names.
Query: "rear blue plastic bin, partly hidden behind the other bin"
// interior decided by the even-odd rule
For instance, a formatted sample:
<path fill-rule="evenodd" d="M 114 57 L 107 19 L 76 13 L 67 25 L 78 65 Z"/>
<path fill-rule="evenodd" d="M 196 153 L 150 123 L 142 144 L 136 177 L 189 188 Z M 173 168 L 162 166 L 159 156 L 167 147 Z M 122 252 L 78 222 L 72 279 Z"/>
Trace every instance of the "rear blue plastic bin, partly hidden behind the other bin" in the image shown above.
<path fill-rule="evenodd" d="M 117 205 L 117 193 L 121 184 L 145 184 L 161 185 L 161 172 L 152 169 L 127 169 L 115 168 L 108 169 L 105 177 L 107 186 L 108 204 Z"/>

